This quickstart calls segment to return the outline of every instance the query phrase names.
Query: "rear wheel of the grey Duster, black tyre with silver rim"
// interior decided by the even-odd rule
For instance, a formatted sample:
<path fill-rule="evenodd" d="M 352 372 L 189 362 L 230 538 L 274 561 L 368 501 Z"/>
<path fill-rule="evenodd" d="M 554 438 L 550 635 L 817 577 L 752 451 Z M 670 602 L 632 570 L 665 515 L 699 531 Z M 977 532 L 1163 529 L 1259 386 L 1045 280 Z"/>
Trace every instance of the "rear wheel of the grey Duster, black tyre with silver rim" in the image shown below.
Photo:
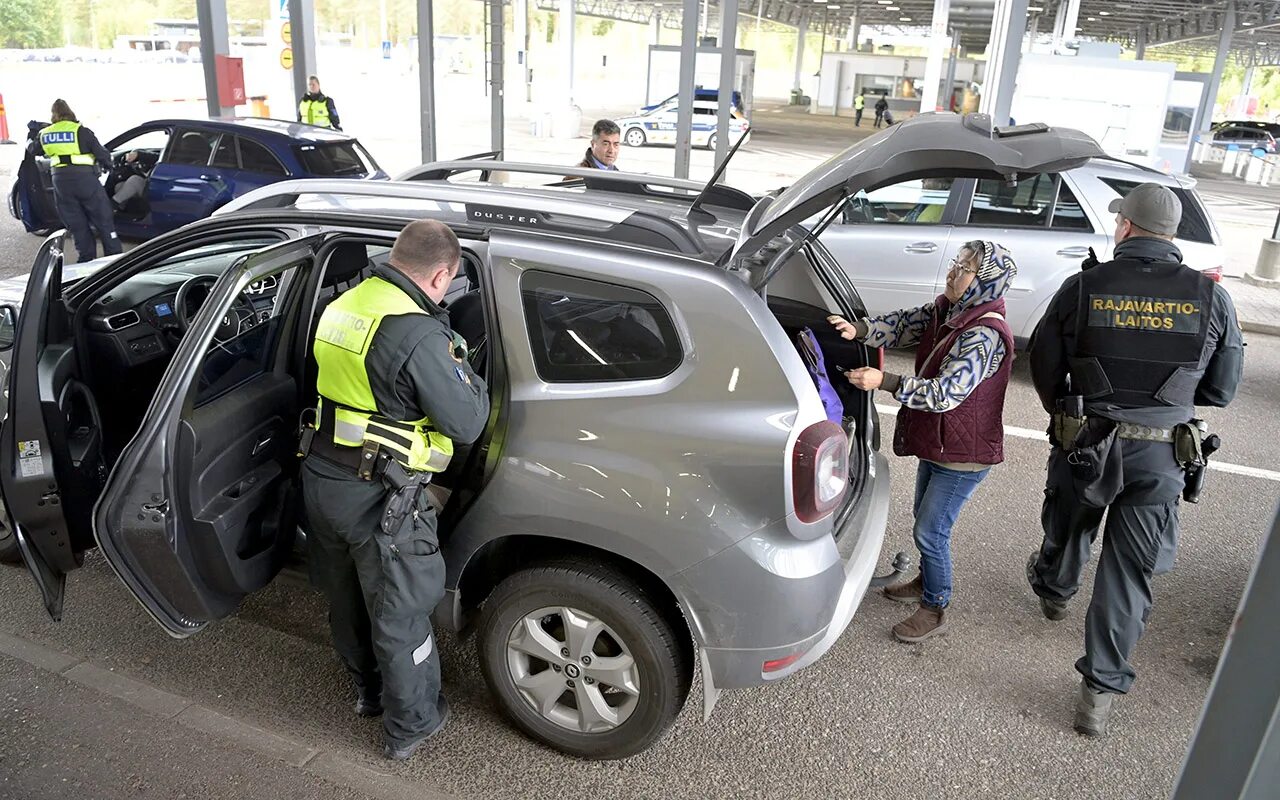
<path fill-rule="evenodd" d="M 562 753 L 617 759 L 658 741 L 684 708 L 692 663 L 680 636 L 649 595 L 620 572 L 564 561 L 516 572 L 493 590 L 477 650 L 485 682 L 517 728 Z M 570 648 L 588 657 L 577 658 Z M 596 713 L 600 703 L 605 713 Z"/>

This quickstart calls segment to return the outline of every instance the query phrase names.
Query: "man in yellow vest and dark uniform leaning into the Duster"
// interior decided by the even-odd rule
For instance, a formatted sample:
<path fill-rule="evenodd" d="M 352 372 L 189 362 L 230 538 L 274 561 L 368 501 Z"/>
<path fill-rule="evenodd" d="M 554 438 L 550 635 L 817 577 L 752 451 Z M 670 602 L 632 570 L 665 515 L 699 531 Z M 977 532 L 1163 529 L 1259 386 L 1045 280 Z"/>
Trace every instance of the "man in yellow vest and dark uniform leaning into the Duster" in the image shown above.
<path fill-rule="evenodd" d="M 489 416 L 488 388 L 439 306 L 458 256 L 445 225 L 410 223 L 389 266 L 325 308 L 316 424 L 301 443 L 312 581 L 329 599 L 356 713 L 383 714 L 383 754 L 396 760 L 448 719 L 430 622 L 444 558 L 426 484 Z"/>

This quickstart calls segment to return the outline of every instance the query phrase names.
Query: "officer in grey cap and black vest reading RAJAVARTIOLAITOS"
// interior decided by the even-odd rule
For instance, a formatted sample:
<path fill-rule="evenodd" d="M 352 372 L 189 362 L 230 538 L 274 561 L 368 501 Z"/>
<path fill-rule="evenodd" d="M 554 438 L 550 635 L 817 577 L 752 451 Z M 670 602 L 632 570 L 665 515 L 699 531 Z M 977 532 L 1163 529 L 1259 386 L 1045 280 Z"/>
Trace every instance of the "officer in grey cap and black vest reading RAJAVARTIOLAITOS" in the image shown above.
<path fill-rule="evenodd" d="M 1184 465 L 1201 453 L 1196 406 L 1226 406 L 1243 338 L 1226 291 L 1181 264 L 1181 204 L 1144 183 L 1116 214 L 1114 259 L 1073 275 L 1030 346 L 1032 380 L 1053 415 L 1044 541 L 1027 577 L 1050 620 L 1066 616 L 1089 545 L 1106 535 L 1085 617 L 1075 730 L 1106 732 L 1151 613 L 1151 577 L 1172 568 Z"/>

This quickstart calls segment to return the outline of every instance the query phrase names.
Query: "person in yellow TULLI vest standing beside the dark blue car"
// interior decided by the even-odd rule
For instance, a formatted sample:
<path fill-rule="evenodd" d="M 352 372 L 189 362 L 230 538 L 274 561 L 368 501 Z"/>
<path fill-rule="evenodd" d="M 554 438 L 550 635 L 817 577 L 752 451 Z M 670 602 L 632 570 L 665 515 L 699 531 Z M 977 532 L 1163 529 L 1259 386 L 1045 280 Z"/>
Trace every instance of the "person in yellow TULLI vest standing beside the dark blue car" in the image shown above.
<path fill-rule="evenodd" d="M 40 147 L 49 157 L 49 174 L 54 180 L 54 202 L 58 216 L 72 232 L 77 261 L 97 257 L 97 230 L 102 255 L 114 256 L 124 248 L 115 233 L 111 201 L 97 182 L 97 168 L 111 169 L 111 154 L 102 147 L 93 132 L 79 124 L 65 100 L 55 100 L 50 109 L 54 120 L 40 131 Z"/>

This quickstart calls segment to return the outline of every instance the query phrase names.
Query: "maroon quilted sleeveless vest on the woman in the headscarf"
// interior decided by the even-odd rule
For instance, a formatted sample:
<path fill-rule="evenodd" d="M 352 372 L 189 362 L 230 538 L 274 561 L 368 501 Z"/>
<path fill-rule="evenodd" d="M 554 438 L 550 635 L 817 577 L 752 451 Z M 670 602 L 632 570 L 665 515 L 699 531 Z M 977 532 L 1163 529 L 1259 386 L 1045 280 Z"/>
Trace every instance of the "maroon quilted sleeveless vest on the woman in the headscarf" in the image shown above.
<path fill-rule="evenodd" d="M 943 413 L 915 411 L 904 406 L 897 412 L 893 453 L 951 463 L 1000 463 L 1005 460 L 1005 389 L 1014 367 L 1014 333 L 1004 320 L 1004 298 L 974 306 L 952 320 L 941 323 L 951 302 L 941 296 L 938 311 L 915 349 L 915 374 L 937 378 L 947 352 L 960 334 L 982 325 L 1000 333 L 1005 358 L 1000 370 L 983 380 L 963 403 Z M 1001 317 L 980 319 L 986 314 Z"/>

